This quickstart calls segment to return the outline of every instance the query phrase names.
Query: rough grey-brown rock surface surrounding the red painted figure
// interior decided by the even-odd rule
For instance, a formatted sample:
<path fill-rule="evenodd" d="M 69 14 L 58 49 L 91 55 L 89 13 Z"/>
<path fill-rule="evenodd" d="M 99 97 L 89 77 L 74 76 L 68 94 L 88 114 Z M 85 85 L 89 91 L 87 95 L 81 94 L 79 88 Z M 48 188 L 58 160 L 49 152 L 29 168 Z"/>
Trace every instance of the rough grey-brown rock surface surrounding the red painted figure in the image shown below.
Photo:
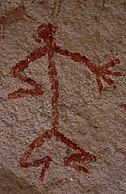
<path fill-rule="evenodd" d="M 47 57 L 33 62 L 25 70 L 27 75 L 43 84 L 44 94 L 15 100 L 7 97 L 20 87 L 29 87 L 13 78 L 10 72 L 19 60 L 39 47 L 33 34 L 40 23 L 58 25 L 55 42 L 62 48 L 87 56 L 97 66 L 119 58 L 120 65 L 112 70 L 126 72 L 126 1 L 62 0 L 57 4 L 60 2 L 60 12 L 52 17 L 53 0 L 28 0 L 25 2 L 26 12 L 36 20 L 19 17 L 19 21 L 11 23 L 9 18 L 13 18 L 13 14 L 8 11 L 18 7 L 20 1 L 0 1 L 0 24 L 3 15 L 8 20 L 5 22 L 5 37 L 0 40 L 0 163 L 3 171 L 9 169 L 3 173 L 8 174 L 4 184 L 10 186 L 11 181 L 10 187 L 17 189 L 16 194 L 22 192 L 18 190 L 18 183 L 13 182 L 17 179 L 21 185 L 24 180 L 36 185 L 38 193 L 44 194 L 125 194 L 126 77 L 112 77 L 117 89 L 104 83 L 106 90 L 100 95 L 95 75 L 82 63 L 60 55 L 54 57 L 59 79 L 60 130 L 94 153 L 97 161 L 89 165 L 90 175 L 78 173 L 63 164 L 63 156 L 70 150 L 51 139 L 32 155 L 33 158 L 45 154 L 53 156 L 43 183 L 39 180 L 41 167 L 19 167 L 24 150 L 51 127 Z M 11 172 L 15 175 L 10 175 Z M 2 187 L 0 189 L 3 194 Z M 27 193 L 25 187 L 23 189 L 22 193 Z"/>

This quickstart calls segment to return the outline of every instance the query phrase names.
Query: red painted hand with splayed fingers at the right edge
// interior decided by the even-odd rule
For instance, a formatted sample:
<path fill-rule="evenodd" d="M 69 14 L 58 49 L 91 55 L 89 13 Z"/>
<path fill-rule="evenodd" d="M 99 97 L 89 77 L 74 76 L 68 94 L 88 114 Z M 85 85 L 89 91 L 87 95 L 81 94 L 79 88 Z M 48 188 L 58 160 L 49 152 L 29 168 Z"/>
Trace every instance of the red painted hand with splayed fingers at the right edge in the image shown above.
<path fill-rule="evenodd" d="M 116 86 L 114 84 L 114 81 L 109 76 L 126 76 L 126 73 L 120 72 L 120 71 L 111 71 L 109 68 L 114 67 L 115 65 L 119 64 L 120 61 L 118 59 L 112 60 L 109 63 L 106 63 L 102 65 L 101 67 L 97 67 L 94 70 L 94 73 L 96 74 L 96 80 L 98 83 L 98 89 L 101 93 L 103 91 L 103 84 L 102 81 L 106 82 L 108 85 L 113 85 L 113 88 L 115 89 Z"/>

